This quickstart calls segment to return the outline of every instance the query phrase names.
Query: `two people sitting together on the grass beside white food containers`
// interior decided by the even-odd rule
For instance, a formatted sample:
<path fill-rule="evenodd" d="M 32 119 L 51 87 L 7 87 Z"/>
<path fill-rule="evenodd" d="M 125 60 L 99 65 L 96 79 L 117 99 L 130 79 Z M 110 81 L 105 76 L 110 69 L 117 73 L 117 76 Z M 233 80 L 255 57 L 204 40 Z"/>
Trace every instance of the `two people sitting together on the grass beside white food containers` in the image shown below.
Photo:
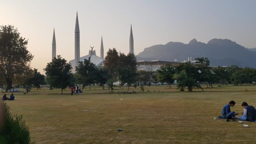
<path fill-rule="evenodd" d="M 243 116 L 236 117 L 236 115 L 238 115 L 239 113 L 230 111 L 230 107 L 235 106 L 235 104 L 236 104 L 235 101 L 230 101 L 228 104 L 226 104 L 222 108 L 222 111 L 221 111 L 222 118 L 224 118 L 224 119 L 241 119 L 241 120 L 245 120 L 245 121 L 256 122 L 256 109 L 253 106 L 248 105 L 246 102 L 243 102 L 242 103 Z"/>

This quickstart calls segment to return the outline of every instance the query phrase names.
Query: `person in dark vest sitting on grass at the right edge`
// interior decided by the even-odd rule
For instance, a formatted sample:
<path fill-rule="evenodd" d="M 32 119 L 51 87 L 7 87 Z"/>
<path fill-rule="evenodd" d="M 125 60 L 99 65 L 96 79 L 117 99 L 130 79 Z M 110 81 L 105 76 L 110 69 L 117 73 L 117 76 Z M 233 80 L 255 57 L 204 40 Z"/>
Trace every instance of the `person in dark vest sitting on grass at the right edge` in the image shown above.
<path fill-rule="evenodd" d="M 256 122 L 256 109 L 253 106 L 249 106 L 246 102 L 242 103 L 242 107 L 244 108 L 243 116 L 238 117 L 238 119 Z"/>

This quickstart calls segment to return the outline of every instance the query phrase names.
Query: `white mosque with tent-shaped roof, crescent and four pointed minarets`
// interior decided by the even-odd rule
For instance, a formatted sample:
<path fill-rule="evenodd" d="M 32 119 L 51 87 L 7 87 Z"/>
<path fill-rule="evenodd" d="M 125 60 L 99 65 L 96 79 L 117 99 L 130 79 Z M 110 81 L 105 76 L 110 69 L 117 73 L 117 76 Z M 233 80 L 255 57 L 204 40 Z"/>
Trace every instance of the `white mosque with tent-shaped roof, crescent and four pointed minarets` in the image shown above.
<path fill-rule="evenodd" d="M 133 34 L 132 34 L 132 26 L 130 31 L 130 53 L 134 53 L 133 50 Z M 52 39 L 52 59 L 56 57 L 56 40 L 55 40 L 55 31 L 53 29 L 53 39 Z M 78 15 L 76 13 L 76 26 L 75 26 L 75 59 L 70 60 L 69 64 L 72 67 L 72 73 L 75 73 L 75 67 L 78 66 L 79 61 L 84 61 L 84 59 L 89 59 L 96 66 L 104 65 L 104 48 L 103 48 L 103 40 L 101 36 L 101 45 L 100 45 L 100 57 L 96 56 L 95 50 L 89 50 L 89 54 L 83 57 L 80 57 L 80 31 L 79 31 L 79 23 L 78 23 Z"/>

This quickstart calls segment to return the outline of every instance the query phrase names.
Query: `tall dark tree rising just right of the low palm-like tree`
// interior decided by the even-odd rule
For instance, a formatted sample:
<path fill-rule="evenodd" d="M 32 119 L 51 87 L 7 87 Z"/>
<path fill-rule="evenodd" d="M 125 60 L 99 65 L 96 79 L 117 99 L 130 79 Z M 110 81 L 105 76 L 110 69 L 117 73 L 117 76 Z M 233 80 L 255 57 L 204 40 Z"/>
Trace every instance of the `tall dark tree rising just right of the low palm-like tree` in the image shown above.
<path fill-rule="evenodd" d="M 208 58 L 195 58 L 197 61 L 196 67 L 198 70 L 201 72 L 199 75 L 199 81 L 205 82 L 206 86 L 208 88 L 207 83 L 209 83 L 209 86 L 212 86 L 212 81 L 213 81 L 213 73 L 212 73 L 212 68 L 209 67 L 210 61 Z"/>

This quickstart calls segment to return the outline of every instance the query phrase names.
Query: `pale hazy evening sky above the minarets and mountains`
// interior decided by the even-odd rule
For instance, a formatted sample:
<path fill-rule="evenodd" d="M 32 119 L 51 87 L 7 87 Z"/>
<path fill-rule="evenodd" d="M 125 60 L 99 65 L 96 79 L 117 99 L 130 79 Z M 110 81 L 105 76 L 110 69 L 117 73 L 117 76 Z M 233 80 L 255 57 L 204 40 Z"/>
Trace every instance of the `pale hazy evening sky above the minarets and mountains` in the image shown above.
<path fill-rule="evenodd" d="M 78 12 L 80 56 L 94 46 L 100 56 L 109 48 L 129 53 L 132 24 L 134 53 L 170 41 L 207 43 L 230 39 L 256 47 L 255 0 L 0 0 L 0 25 L 14 25 L 28 39 L 34 55 L 31 66 L 44 74 L 51 62 L 53 28 L 56 54 L 75 57 L 75 20 Z"/>

